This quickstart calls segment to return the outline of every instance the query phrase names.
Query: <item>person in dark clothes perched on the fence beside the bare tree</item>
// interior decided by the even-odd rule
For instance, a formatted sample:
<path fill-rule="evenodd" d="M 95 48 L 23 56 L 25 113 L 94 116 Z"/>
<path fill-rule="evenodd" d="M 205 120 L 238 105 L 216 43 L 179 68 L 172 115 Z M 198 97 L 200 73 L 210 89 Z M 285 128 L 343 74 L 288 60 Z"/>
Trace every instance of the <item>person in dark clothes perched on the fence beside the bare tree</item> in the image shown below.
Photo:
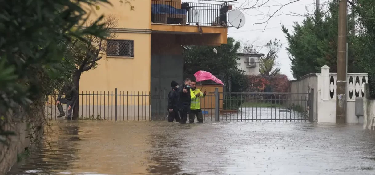
<path fill-rule="evenodd" d="M 65 94 L 65 98 L 61 98 Z M 66 104 L 68 106 L 68 120 L 72 120 L 72 111 L 75 101 L 78 98 L 78 90 L 72 83 L 65 83 L 63 88 L 60 90 L 56 105 L 60 114 L 57 117 L 65 116 L 64 108 L 61 104 Z"/>

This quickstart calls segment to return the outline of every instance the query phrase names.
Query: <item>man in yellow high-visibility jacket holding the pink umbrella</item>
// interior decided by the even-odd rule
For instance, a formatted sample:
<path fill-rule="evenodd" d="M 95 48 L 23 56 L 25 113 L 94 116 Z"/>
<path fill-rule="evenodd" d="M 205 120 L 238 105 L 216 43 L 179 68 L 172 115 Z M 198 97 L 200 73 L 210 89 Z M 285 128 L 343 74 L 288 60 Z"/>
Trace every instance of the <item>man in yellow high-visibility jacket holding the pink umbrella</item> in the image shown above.
<path fill-rule="evenodd" d="M 194 123 L 194 118 L 196 115 L 196 119 L 198 120 L 198 123 L 203 123 L 203 116 L 202 116 L 202 110 L 201 110 L 201 104 L 200 104 L 200 98 L 204 98 L 207 94 L 206 91 L 203 93 L 201 90 L 196 89 L 195 87 L 196 82 L 191 81 L 190 84 L 190 113 L 189 113 L 189 123 Z"/>

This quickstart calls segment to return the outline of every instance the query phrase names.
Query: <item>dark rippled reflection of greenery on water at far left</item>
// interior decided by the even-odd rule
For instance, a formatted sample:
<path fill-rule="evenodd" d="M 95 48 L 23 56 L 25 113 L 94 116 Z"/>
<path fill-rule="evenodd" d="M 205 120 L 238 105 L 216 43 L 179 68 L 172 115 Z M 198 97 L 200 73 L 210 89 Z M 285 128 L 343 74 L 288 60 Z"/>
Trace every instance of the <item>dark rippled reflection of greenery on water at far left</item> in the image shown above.
<path fill-rule="evenodd" d="M 40 149 L 33 151 L 29 159 L 14 166 L 10 174 L 16 172 L 33 172 L 44 175 L 60 170 L 69 169 L 72 162 L 77 160 L 77 141 L 80 126 L 77 122 L 67 121 L 60 125 L 52 126 L 40 145 Z"/>

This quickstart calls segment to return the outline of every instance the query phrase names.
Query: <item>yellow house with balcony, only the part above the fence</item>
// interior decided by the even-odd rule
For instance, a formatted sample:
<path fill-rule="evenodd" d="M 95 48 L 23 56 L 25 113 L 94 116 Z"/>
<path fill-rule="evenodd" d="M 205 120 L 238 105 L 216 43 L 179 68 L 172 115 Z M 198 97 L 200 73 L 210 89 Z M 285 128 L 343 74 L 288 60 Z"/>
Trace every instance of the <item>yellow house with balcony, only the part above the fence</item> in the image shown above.
<path fill-rule="evenodd" d="M 136 0 L 130 5 L 110 0 L 92 18 L 104 14 L 118 19 L 117 53 L 101 59 L 95 70 L 82 74 L 80 91 L 152 92 L 183 81 L 183 47 L 226 43 L 227 3 L 188 3 L 181 0 Z M 206 1 L 210 2 L 210 1 Z M 217 25 L 221 17 L 225 25 Z M 199 28 L 198 25 L 199 23 Z M 201 29 L 201 30 L 199 30 Z"/>

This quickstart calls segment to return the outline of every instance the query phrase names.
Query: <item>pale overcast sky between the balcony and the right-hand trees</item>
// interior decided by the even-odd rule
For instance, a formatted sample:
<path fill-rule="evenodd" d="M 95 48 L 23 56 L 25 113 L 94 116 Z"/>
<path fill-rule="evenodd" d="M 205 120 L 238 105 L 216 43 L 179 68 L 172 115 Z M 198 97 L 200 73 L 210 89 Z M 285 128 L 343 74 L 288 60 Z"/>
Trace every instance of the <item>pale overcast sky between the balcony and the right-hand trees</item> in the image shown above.
<path fill-rule="evenodd" d="M 233 9 L 238 7 L 246 8 L 252 6 L 257 0 L 238 0 L 234 2 Z M 258 0 L 258 4 L 261 4 L 261 1 L 266 2 L 268 0 Z M 288 46 L 287 40 L 285 39 L 284 33 L 281 31 L 281 24 L 291 30 L 293 22 L 302 21 L 304 17 L 298 15 L 282 15 L 298 13 L 306 13 L 306 7 L 309 11 L 309 14 L 314 14 L 315 10 L 315 0 L 300 0 L 298 2 L 291 3 L 287 6 L 284 6 L 276 13 L 276 16 L 272 17 L 268 24 L 256 24 L 266 22 L 269 17 L 261 14 L 272 14 L 280 8 L 280 5 L 290 3 L 290 1 L 296 0 L 269 0 L 264 6 L 257 9 L 242 9 L 241 11 L 245 14 L 246 23 L 243 27 L 229 28 L 228 36 L 233 37 L 236 40 L 241 42 L 254 43 L 255 46 L 259 46 L 261 49 L 260 53 L 266 53 L 264 46 L 271 39 L 280 39 L 283 47 L 279 52 L 278 62 L 281 67 L 282 74 L 286 74 L 290 79 L 294 79 L 290 70 L 290 59 L 288 58 L 288 52 L 285 47 Z M 320 0 L 320 4 L 326 3 L 327 0 Z M 323 8 L 325 10 L 326 8 Z M 265 28 L 265 29 L 264 29 Z M 263 48 L 263 49 L 262 49 Z"/>

